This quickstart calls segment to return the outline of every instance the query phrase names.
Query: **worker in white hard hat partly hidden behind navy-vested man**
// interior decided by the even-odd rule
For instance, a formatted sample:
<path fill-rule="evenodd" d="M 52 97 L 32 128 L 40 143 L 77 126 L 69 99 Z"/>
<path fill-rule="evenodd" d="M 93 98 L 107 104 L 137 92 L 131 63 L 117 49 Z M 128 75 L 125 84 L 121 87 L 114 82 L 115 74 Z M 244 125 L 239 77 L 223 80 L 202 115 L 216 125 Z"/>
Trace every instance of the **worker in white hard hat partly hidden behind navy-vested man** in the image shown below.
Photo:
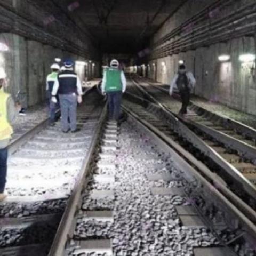
<path fill-rule="evenodd" d="M 54 63 L 51 66 L 51 70 L 52 70 L 52 73 L 49 74 L 47 76 L 47 79 L 46 79 L 46 91 L 47 91 L 47 94 L 48 94 L 48 97 L 49 97 L 50 125 L 53 126 L 55 124 L 55 121 L 56 121 L 55 112 L 58 108 L 58 100 L 57 100 L 57 103 L 55 103 L 51 100 L 51 97 L 52 97 L 53 85 L 54 85 L 55 80 L 58 77 L 58 72 L 60 70 L 59 64 Z"/>

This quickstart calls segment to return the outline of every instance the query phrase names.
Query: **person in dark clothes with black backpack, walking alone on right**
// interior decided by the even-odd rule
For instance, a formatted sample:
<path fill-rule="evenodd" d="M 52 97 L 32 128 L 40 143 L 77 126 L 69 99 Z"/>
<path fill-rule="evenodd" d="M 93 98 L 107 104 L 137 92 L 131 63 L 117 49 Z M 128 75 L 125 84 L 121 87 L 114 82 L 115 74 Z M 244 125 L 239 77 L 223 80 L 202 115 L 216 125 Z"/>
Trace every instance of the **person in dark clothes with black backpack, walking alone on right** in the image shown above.
<path fill-rule="evenodd" d="M 191 72 L 186 70 L 184 64 L 179 66 L 179 71 L 175 74 L 170 85 L 170 96 L 172 96 L 173 89 L 178 89 L 180 98 L 182 101 L 182 107 L 179 111 L 179 115 L 187 114 L 187 107 L 190 101 L 190 92 L 195 87 L 196 80 Z"/>

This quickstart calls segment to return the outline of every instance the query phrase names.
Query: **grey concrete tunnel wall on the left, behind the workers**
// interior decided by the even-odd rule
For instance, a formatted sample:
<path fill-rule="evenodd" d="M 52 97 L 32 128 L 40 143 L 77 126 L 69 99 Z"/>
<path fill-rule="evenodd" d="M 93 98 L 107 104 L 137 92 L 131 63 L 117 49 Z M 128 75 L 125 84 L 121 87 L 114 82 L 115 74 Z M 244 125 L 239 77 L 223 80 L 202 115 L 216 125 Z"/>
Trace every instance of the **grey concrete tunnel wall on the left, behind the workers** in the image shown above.
<path fill-rule="evenodd" d="M 10 86 L 7 91 L 12 93 L 13 97 L 21 92 L 19 100 L 24 107 L 36 105 L 46 99 L 46 76 L 51 72 L 50 66 L 55 57 L 62 60 L 71 58 L 73 60 L 86 61 L 73 53 L 65 52 L 50 45 L 44 45 L 40 42 L 30 41 L 14 34 L 0 34 L 0 42 L 9 46 L 6 52 L 0 52 L 0 67 L 6 71 L 10 79 Z M 86 66 L 84 66 L 86 68 Z M 97 76 L 99 65 L 95 65 Z M 85 71 L 82 72 L 85 75 Z M 93 74 L 87 72 L 87 79 L 92 78 Z M 80 76 L 85 80 L 85 76 Z"/>

